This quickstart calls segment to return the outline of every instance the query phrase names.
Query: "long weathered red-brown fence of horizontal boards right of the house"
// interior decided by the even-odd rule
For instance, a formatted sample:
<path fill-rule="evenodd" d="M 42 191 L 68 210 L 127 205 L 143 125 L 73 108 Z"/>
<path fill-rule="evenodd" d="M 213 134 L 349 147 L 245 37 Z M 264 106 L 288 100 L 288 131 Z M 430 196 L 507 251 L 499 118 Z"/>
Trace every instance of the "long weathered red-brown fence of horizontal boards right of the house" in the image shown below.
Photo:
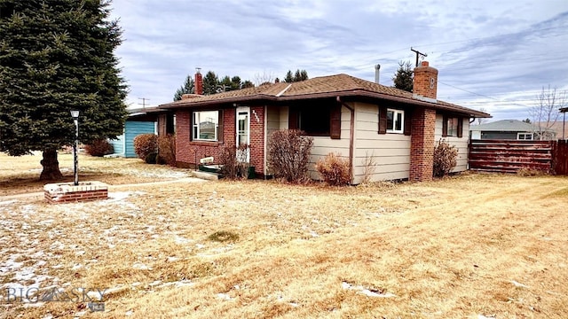
<path fill-rule="evenodd" d="M 515 173 L 521 168 L 531 168 L 548 172 L 553 168 L 554 144 L 556 142 L 552 141 L 470 140 L 469 169 Z"/>

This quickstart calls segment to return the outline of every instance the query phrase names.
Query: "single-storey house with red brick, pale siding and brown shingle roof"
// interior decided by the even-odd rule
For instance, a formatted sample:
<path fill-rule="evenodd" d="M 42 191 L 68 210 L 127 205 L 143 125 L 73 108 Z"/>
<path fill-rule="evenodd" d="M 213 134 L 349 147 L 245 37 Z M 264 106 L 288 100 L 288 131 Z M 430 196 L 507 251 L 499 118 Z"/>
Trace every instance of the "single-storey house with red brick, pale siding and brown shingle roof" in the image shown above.
<path fill-rule="evenodd" d="M 196 74 L 196 92 L 201 92 L 201 79 Z M 466 170 L 469 119 L 490 117 L 439 101 L 437 86 L 438 70 L 424 61 L 414 69 L 414 93 L 336 74 L 209 96 L 185 95 L 159 107 L 175 113 L 179 167 L 195 167 L 209 156 L 218 162 L 224 147 L 248 144 L 256 175 L 270 175 L 269 136 L 299 128 L 313 137 L 312 178 L 318 178 L 315 162 L 335 152 L 349 159 L 352 183 L 361 182 L 367 156 L 375 157 L 372 181 L 429 181 L 436 141 L 445 138 L 454 144 L 459 151 L 454 171 Z"/>

